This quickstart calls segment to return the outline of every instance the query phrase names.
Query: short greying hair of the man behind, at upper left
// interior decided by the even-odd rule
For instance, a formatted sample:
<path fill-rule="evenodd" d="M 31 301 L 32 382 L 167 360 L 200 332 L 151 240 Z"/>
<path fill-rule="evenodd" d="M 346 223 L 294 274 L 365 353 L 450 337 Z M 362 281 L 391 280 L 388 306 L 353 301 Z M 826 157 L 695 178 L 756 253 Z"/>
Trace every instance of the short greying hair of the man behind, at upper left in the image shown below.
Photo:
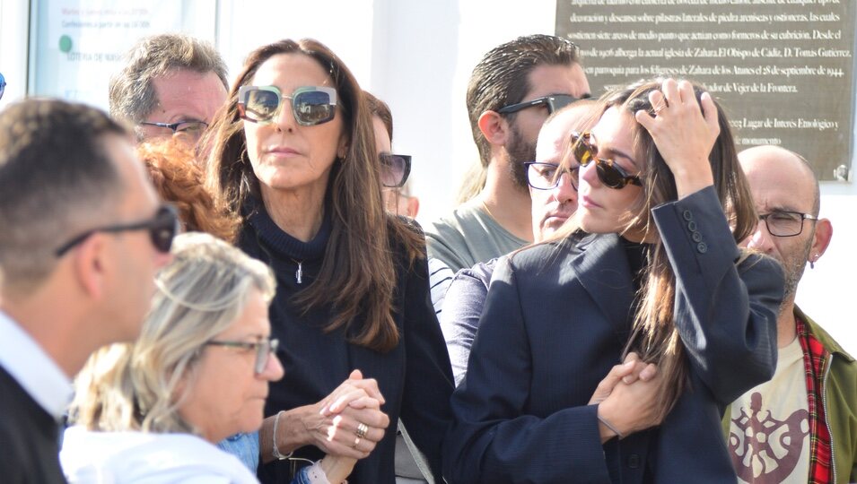
<path fill-rule="evenodd" d="M 208 42 L 168 33 L 140 39 L 126 55 L 126 64 L 110 78 L 110 115 L 138 125 L 158 104 L 153 80 L 173 70 L 215 73 L 229 91 L 226 63 Z"/>

